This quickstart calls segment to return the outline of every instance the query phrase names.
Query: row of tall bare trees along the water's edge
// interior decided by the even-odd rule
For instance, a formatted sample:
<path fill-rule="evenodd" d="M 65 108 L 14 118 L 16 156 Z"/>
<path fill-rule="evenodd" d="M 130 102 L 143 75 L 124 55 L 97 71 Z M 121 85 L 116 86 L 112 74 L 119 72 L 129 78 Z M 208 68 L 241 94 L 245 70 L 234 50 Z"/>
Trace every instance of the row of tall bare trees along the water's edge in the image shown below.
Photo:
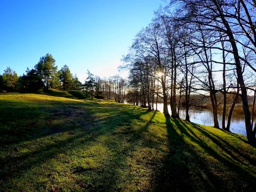
<path fill-rule="evenodd" d="M 256 143 L 255 99 L 250 108 L 247 93 L 255 95 L 255 5 L 254 0 L 174 0 L 157 11 L 123 58 L 135 103 L 151 110 L 161 97 L 164 115 L 169 116 L 170 103 L 172 117 L 179 118 L 178 103 L 184 97 L 189 121 L 190 94 L 205 95 L 214 127 L 220 127 L 222 104 L 221 127 L 229 131 L 232 110 L 241 98 L 247 138 Z M 233 98 L 229 105 L 228 97 Z"/>

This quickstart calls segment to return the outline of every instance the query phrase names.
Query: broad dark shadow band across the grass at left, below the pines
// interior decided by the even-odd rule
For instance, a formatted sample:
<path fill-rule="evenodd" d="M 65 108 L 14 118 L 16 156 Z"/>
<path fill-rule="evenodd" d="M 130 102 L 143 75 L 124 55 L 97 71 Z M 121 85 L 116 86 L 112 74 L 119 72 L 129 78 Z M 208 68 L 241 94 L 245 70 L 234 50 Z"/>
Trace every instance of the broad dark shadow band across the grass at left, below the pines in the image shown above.
<path fill-rule="evenodd" d="M 0 102 L 0 105 L 3 104 Z M 4 105 L 4 106 L 3 106 Z M 36 140 L 56 133 L 90 127 L 103 123 L 103 118 L 95 117 L 105 109 L 109 113 L 105 119 L 120 117 L 118 107 L 112 103 L 65 102 L 58 100 L 7 101 L 0 110 L 0 146 L 13 145 Z M 113 111 L 117 108 L 116 112 Z M 109 109 L 109 110 L 108 110 Z M 111 112 L 112 111 L 112 112 Z M 147 113 L 147 112 L 143 112 Z M 139 114 L 139 115 L 143 115 Z M 95 119 L 99 119 L 95 121 Z M 60 120 L 60 121 L 59 121 Z M 125 121 L 125 119 L 124 119 Z"/>

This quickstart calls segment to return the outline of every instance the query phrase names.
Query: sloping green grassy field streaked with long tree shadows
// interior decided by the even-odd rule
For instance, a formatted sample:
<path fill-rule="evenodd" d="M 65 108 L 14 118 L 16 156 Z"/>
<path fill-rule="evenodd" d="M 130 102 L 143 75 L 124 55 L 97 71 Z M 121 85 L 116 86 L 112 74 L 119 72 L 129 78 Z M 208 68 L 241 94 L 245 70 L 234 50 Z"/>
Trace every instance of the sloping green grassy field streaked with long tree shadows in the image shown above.
<path fill-rule="evenodd" d="M 129 104 L 0 94 L 0 191 L 255 191 L 241 135 Z"/>

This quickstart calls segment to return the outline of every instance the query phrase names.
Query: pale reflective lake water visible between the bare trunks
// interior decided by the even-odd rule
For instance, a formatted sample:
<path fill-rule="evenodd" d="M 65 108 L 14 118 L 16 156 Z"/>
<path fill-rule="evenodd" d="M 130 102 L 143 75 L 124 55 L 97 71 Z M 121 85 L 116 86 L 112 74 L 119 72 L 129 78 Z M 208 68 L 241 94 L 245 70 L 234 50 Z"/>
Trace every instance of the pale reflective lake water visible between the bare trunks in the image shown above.
<path fill-rule="evenodd" d="M 154 106 L 156 109 L 156 106 Z M 157 110 L 160 112 L 163 112 L 163 104 L 158 103 L 157 104 Z M 169 114 L 170 112 L 170 105 L 168 105 L 168 111 Z M 213 115 L 211 111 L 208 110 L 189 110 L 189 117 L 190 121 L 202 125 L 209 125 L 209 126 L 214 126 L 214 120 L 213 120 Z M 186 117 L 186 111 L 185 110 L 180 110 L 179 112 L 180 118 L 185 119 Z M 221 119 L 222 117 L 219 115 L 219 125 L 220 127 L 222 126 Z M 227 122 L 226 122 L 227 123 Z M 241 119 L 236 118 L 236 119 L 231 119 L 230 123 L 230 131 L 233 133 L 238 133 L 246 136 L 246 130 L 245 130 L 245 123 L 243 116 Z"/>

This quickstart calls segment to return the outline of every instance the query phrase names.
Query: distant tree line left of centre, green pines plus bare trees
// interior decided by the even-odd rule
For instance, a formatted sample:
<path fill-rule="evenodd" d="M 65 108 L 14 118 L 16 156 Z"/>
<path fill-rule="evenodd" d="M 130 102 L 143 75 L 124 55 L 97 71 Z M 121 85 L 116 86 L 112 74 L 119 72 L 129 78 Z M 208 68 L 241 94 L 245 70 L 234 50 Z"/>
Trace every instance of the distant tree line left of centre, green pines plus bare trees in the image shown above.
<path fill-rule="evenodd" d="M 37 92 L 48 91 L 49 88 L 63 90 L 82 90 L 96 98 L 107 98 L 123 103 L 126 90 L 126 81 L 116 75 L 108 80 L 94 76 L 87 72 L 87 79 L 81 83 L 76 75 L 72 75 L 67 65 L 60 70 L 55 65 L 51 54 L 40 57 L 33 69 L 27 69 L 26 74 L 18 76 L 10 67 L 0 75 L 0 90 Z"/>

